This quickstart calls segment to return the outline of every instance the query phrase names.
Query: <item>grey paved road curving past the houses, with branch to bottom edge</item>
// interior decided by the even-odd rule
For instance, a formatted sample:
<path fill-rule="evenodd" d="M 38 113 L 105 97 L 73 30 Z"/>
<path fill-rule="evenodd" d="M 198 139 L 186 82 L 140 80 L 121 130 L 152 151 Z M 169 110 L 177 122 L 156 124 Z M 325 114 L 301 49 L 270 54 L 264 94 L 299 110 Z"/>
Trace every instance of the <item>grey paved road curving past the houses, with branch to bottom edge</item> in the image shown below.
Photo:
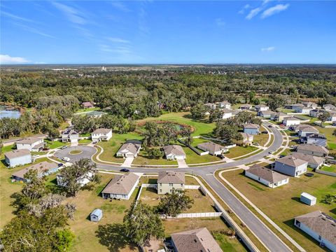
<path fill-rule="evenodd" d="M 264 123 L 264 125 L 268 126 L 269 124 Z M 202 176 L 202 178 L 209 183 L 209 186 L 222 198 L 222 200 L 228 204 L 228 206 L 235 211 L 237 216 L 241 218 L 242 221 L 248 226 L 250 230 L 254 232 L 254 234 L 262 241 L 267 248 L 269 248 L 270 251 L 276 251 L 276 252 L 282 252 L 282 251 L 290 251 L 290 249 L 283 244 L 283 242 L 279 239 L 279 237 L 276 237 L 274 233 L 269 230 L 264 223 L 262 223 L 259 218 L 254 216 L 254 214 L 245 207 L 244 204 L 242 204 L 235 195 L 233 195 L 230 190 L 225 188 L 221 182 L 219 182 L 214 176 L 214 172 L 218 169 L 230 169 L 230 167 L 237 167 L 238 165 L 246 165 L 250 162 L 258 161 L 260 158 L 264 158 L 265 156 L 269 155 L 270 151 L 276 151 L 282 144 L 283 137 L 282 134 L 279 132 L 279 130 L 276 130 L 276 128 L 272 127 L 269 128 L 272 130 L 274 134 L 274 141 L 271 146 L 269 146 L 266 150 L 257 153 L 255 155 L 252 155 L 251 157 L 244 158 L 241 160 L 237 160 L 234 162 L 228 162 L 218 165 L 209 165 L 207 167 L 188 167 L 188 168 L 181 168 L 179 171 L 181 172 L 188 172 L 197 174 L 199 176 Z M 79 146 L 78 146 L 79 147 Z M 89 153 L 94 153 L 95 150 L 93 147 L 85 146 L 85 150 L 88 151 L 87 148 L 92 148 Z M 63 150 L 64 151 L 64 150 Z M 58 152 L 57 152 L 58 153 Z M 62 153 L 64 155 L 64 153 Z M 62 155 L 59 155 L 62 156 Z M 69 158 L 72 158 L 68 155 Z M 87 156 L 86 156 L 87 157 Z M 77 158 L 77 157 L 76 157 Z M 119 171 L 120 167 L 113 166 L 113 165 L 102 165 L 97 164 L 97 167 L 99 169 L 106 169 L 111 171 Z M 131 172 L 159 172 L 159 171 L 176 171 L 176 168 L 130 168 Z"/>

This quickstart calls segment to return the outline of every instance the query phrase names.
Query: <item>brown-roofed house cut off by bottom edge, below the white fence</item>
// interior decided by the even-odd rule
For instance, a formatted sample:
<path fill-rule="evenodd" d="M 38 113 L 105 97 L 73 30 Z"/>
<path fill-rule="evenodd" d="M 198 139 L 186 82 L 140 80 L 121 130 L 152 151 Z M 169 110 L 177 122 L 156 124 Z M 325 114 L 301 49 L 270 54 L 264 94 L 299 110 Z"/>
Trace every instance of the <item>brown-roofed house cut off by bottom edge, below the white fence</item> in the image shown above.
<path fill-rule="evenodd" d="M 176 252 L 223 252 L 207 228 L 172 234 L 172 245 Z"/>

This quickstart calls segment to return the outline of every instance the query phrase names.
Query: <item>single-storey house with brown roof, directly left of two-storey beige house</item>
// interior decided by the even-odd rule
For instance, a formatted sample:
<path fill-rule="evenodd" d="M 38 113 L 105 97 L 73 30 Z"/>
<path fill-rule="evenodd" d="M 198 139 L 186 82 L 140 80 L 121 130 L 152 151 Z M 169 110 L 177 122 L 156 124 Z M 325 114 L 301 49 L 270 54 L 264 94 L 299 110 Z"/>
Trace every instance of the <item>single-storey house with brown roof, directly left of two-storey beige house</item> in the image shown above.
<path fill-rule="evenodd" d="M 132 193 L 138 186 L 140 176 L 132 172 L 124 175 L 116 175 L 102 190 L 104 199 L 130 200 Z"/>

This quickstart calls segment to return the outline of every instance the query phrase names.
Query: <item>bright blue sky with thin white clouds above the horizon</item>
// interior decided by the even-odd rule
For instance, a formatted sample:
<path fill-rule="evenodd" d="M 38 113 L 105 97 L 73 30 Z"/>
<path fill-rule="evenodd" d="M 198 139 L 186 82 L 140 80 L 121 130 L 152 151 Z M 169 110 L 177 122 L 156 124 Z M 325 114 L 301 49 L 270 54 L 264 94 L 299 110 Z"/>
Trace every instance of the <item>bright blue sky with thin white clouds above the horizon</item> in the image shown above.
<path fill-rule="evenodd" d="M 336 1 L 1 1 L 3 64 L 336 63 Z"/>

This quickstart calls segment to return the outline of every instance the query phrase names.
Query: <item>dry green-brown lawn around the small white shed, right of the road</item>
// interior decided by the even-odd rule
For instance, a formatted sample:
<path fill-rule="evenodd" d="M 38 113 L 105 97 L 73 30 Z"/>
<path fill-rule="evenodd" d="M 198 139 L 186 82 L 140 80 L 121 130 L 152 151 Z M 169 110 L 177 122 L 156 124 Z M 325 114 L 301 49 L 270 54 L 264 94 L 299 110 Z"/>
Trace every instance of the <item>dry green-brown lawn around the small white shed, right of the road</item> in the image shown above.
<path fill-rule="evenodd" d="M 293 218 L 316 210 L 321 210 L 335 218 L 335 206 L 321 203 L 324 195 L 336 193 L 334 177 L 323 174 L 314 174 L 313 177 L 290 177 L 287 185 L 272 189 L 247 178 L 241 171 L 239 169 L 225 172 L 223 176 L 304 249 L 323 251 L 313 239 L 294 227 Z M 310 207 L 300 202 L 302 192 L 317 197 L 316 205 Z"/>

